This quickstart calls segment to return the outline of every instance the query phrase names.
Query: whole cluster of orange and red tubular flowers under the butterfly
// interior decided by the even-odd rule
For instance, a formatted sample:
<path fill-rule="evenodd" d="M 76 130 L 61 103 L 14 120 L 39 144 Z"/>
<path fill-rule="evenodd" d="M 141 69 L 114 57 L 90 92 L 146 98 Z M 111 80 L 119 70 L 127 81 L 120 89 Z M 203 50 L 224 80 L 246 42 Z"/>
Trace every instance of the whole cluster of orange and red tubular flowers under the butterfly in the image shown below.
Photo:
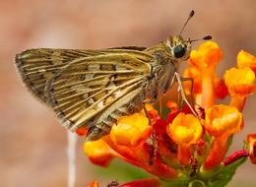
<path fill-rule="evenodd" d="M 191 107 L 179 108 L 174 100 L 168 100 L 169 112 L 163 119 L 153 106 L 147 105 L 148 115 L 141 111 L 122 117 L 109 135 L 86 142 L 86 155 L 101 166 L 120 157 L 158 177 L 121 185 L 127 187 L 224 186 L 247 157 L 255 164 L 256 134 L 247 136 L 243 150 L 225 155 L 232 136 L 244 126 L 242 110 L 246 98 L 255 90 L 256 58 L 240 51 L 237 67 L 225 71 L 224 78 L 220 78 L 216 68 L 222 57 L 223 52 L 214 41 L 191 51 L 183 77 L 192 78 L 193 85 L 184 82 L 183 88 L 193 96 L 196 105 L 192 108 L 198 115 Z M 217 103 L 217 98 L 226 95 L 230 95 L 229 104 Z"/>

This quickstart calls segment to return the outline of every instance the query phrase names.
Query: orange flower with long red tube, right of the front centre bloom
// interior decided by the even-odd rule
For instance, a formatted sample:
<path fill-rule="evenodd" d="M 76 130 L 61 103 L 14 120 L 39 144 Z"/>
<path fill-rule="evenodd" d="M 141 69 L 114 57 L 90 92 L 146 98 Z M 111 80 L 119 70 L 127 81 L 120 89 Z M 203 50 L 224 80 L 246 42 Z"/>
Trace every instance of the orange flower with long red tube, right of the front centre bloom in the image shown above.
<path fill-rule="evenodd" d="M 206 110 L 205 129 L 215 137 L 215 141 L 206 158 L 205 168 L 212 169 L 223 161 L 229 136 L 242 127 L 242 114 L 233 106 L 220 104 Z"/>

